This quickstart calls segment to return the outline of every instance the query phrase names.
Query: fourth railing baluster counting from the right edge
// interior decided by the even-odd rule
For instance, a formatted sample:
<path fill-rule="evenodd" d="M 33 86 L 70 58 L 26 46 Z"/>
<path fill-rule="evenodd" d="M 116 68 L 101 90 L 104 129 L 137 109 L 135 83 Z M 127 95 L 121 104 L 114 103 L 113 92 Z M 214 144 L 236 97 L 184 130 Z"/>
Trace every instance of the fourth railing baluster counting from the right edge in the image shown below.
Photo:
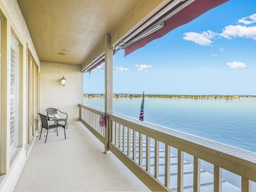
<path fill-rule="evenodd" d="M 183 192 L 183 182 L 184 182 L 184 152 L 178 150 L 178 191 Z"/>

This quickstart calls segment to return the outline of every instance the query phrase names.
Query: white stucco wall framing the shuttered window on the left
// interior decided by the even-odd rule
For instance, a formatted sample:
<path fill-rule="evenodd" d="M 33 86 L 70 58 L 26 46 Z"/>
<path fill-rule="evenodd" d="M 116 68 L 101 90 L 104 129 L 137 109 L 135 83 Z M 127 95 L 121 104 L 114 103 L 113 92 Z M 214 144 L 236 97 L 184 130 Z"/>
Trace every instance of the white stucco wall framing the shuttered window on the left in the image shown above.
<path fill-rule="evenodd" d="M 34 48 L 34 44 L 32 42 L 30 33 L 28 31 L 28 28 L 26 26 L 26 22 L 22 16 L 22 13 L 20 11 L 20 8 L 18 6 L 18 3 L 16 0 L 0 0 L 0 9 L 6 16 L 6 19 L 8 21 L 8 24 L 11 25 L 13 28 L 14 32 L 18 36 L 20 42 L 22 43 L 23 46 L 23 74 L 22 74 L 22 80 L 23 84 L 20 87 L 20 91 L 23 89 L 23 99 L 20 100 L 22 102 L 22 112 L 23 116 L 20 122 L 22 121 L 22 149 L 20 150 L 19 155 L 15 159 L 14 163 L 8 169 L 8 172 L 6 175 L 1 176 L 1 181 L 0 181 L 0 192 L 11 192 L 14 190 L 14 187 L 16 185 L 16 182 L 18 180 L 18 177 L 20 176 L 20 173 L 22 171 L 22 168 L 26 162 L 26 120 L 27 120 L 27 111 L 26 111 L 26 106 L 27 106 L 27 74 L 26 74 L 26 43 L 28 43 L 28 49 L 30 50 L 36 64 L 38 64 L 38 67 L 40 68 L 40 60 L 38 58 L 38 55 L 36 53 L 36 50 Z"/>

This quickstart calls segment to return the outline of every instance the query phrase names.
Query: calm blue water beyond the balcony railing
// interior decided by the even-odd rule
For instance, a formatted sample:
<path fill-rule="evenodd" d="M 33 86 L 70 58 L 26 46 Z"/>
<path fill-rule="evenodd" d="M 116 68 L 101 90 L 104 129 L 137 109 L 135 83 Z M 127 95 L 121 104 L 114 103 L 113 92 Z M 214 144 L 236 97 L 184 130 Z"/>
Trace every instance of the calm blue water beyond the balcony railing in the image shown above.
<path fill-rule="evenodd" d="M 114 98 L 114 112 L 139 118 L 142 98 Z M 104 98 L 84 98 L 104 108 Z M 256 98 L 145 98 L 144 121 L 256 152 Z"/>

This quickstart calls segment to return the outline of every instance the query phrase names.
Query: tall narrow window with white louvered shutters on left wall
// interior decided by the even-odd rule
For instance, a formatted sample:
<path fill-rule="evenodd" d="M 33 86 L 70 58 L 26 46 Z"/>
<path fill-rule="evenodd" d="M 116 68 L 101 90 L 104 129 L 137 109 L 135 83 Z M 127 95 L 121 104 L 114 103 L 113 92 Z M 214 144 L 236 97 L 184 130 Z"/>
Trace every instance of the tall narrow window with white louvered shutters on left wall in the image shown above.
<path fill-rule="evenodd" d="M 11 35 L 10 158 L 19 147 L 19 44 Z"/>

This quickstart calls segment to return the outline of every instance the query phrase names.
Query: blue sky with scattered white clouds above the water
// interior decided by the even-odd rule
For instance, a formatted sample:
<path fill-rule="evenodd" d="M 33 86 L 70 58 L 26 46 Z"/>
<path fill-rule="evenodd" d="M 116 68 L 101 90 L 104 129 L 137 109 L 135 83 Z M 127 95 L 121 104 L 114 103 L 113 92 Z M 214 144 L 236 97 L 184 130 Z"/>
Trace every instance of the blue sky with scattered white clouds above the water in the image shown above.
<path fill-rule="evenodd" d="M 124 57 L 113 92 L 256 95 L 256 0 L 230 0 Z M 84 73 L 84 93 L 104 93 L 104 64 Z"/>

